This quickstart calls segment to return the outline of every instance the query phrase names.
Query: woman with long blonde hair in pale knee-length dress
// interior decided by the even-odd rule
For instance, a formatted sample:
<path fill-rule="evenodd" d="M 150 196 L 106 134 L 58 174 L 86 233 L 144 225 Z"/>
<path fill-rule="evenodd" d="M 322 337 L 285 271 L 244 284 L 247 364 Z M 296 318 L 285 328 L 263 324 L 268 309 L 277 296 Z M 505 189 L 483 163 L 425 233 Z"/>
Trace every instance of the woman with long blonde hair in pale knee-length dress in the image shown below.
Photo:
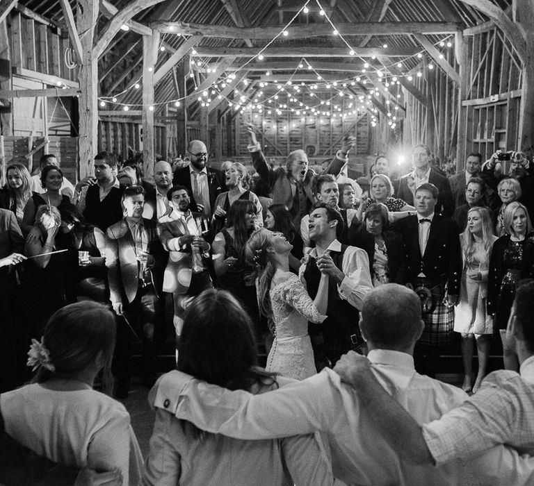
<path fill-rule="evenodd" d="M 497 237 L 493 234 L 492 216 L 487 208 L 471 208 L 467 227 L 460 235 L 464 269 L 460 298 L 454 311 L 454 330 L 461 333 L 460 346 L 464 363 L 464 392 L 475 393 L 486 376 L 489 347 L 492 342 L 493 317 L 487 313 L 487 274 L 489 255 Z M 473 337 L 478 353 L 478 374 L 473 385 Z"/>

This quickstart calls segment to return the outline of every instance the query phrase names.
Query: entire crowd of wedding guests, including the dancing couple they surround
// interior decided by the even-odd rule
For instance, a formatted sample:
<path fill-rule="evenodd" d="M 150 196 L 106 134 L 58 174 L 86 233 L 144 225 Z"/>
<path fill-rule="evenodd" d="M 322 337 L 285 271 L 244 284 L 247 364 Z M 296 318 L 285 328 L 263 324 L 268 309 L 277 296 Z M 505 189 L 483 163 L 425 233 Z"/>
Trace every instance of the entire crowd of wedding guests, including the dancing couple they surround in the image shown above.
<path fill-rule="evenodd" d="M 188 144 L 187 160 L 156 162 L 154 185 L 142 159 L 119 167 L 107 152 L 76 185 L 54 156 L 43 156 L 33 176 L 24 165 L 7 167 L 0 355 L 9 371 L 0 379 L 0 424 L 40 456 L 23 461 L 49 460 L 53 483 L 58 474 L 88 484 L 329 484 L 333 477 L 460 484 L 482 468 L 494 484 L 505 477 L 528 484 L 534 465 L 518 451 L 528 452 L 519 444 L 531 436 L 519 444 L 492 436 L 466 467 L 467 454 L 442 459 L 435 435 L 423 430 L 421 438 L 410 421 L 391 418 L 422 450 L 423 465 L 402 462 L 406 444 L 387 437 L 369 405 L 381 396 L 376 377 L 401 390 L 387 387 L 417 424 L 460 406 L 467 392 L 487 407 L 491 387 L 483 378 L 495 337 L 503 367 L 521 365 L 526 374 L 533 347 L 524 309 L 534 300 L 533 285 L 519 285 L 534 276 L 534 175 L 526 155 L 497 151 L 483 161 L 471 153 L 465 169 L 447 178 L 419 144 L 407 174 L 394 177 L 379 156 L 369 177 L 356 180 L 348 169 L 351 137 L 314 170 L 302 150 L 273 167 L 252 127 L 247 136 L 252 176 L 240 162 L 210 167 L 200 140 Z M 154 385 L 169 308 L 179 371 Z M 440 353 L 458 336 L 462 389 L 434 379 Z M 92 389 L 98 376 L 104 392 L 128 396 L 134 345 L 143 383 L 154 385 L 145 466 L 124 407 Z M 366 362 L 339 362 L 351 350 Z M 259 353 L 267 355 L 265 369 Z M 31 378 L 26 360 L 37 374 L 16 389 Z M 350 385 L 341 385 L 334 367 Z M 213 385 L 209 396 L 204 381 Z M 350 386 L 369 392 L 369 401 Z M 53 417 L 55 428 L 42 417 Z M 377 434 L 383 440 L 370 442 Z"/>

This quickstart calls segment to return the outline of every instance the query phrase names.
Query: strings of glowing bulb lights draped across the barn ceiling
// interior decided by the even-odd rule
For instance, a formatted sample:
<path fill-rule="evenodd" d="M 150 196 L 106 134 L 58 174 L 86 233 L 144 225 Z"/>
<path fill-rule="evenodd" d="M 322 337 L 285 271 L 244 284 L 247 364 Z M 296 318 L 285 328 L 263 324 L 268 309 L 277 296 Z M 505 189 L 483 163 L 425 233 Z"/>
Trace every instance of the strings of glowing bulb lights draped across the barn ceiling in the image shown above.
<path fill-rule="evenodd" d="M 279 33 L 277 33 L 277 35 L 275 35 L 275 37 L 273 37 L 273 39 L 271 39 L 264 47 L 260 48 L 259 51 L 257 51 L 257 53 L 255 53 L 253 56 L 250 56 L 250 58 L 245 60 L 245 62 L 243 62 L 243 64 L 241 64 L 238 68 L 236 68 L 235 69 L 236 72 L 245 68 L 253 60 L 258 60 L 261 62 L 266 57 L 268 57 L 268 53 L 266 53 L 268 47 L 270 47 L 270 45 L 273 44 L 273 42 L 275 42 L 275 40 L 277 40 L 279 37 L 289 37 L 289 31 L 288 31 L 289 26 L 293 24 L 293 22 L 298 17 L 298 15 L 300 15 L 301 13 L 307 14 L 310 12 L 310 8 L 308 6 L 310 1 L 311 0 L 307 0 L 304 3 L 304 5 L 300 8 L 300 10 L 298 10 L 296 15 L 293 16 L 293 18 L 280 30 Z M 341 108 L 339 108 L 339 106 L 332 104 L 332 101 L 334 101 L 334 98 L 337 96 L 339 97 L 347 96 L 349 99 L 354 99 L 355 94 L 353 94 L 352 92 L 346 93 L 344 91 L 344 89 L 347 88 L 349 85 L 355 86 L 356 84 L 358 84 L 359 87 L 362 87 L 362 85 L 366 85 L 368 83 L 368 80 L 366 79 L 368 75 L 375 75 L 375 76 L 378 76 L 378 81 L 371 80 L 371 83 L 373 85 L 377 85 L 378 83 L 380 83 L 381 89 L 384 90 L 385 92 L 390 92 L 391 94 L 391 90 L 389 90 L 389 88 L 397 86 L 397 90 L 398 90 L 398 86 L 401 85 L 401 81 L 399 81 L 400 78 L 405 78 L 407 79 L 407 81 L 413 81 L 415 77 L 420 78 L 423 75 L 421 69 L 419 69 L 417 72 L 414 72 L 413 74 L 410 72 L 403 73 L 403 74 L 393 74 L 390 72 L 390 69 L 392 67 L 402 69 L 407 64 L 407 62 L 409 60 L 412 60 L 413 58 L 422 59 L 423 54 L 425 52 L 424 49 L 419 51 L 418 53 L 412 54 L 411 56 L 406 56 L 401 61 L 392 62 L 391 65 L 385 65 L 382 62 L 382 60 L 378 59 L 378 62 L 380 62 L 382 67 L 377 69 L 373 67 L 369 62 L 364 60 L 364 58 L 361 58 L 360 56 L 357 55 L 357 48 L 352 47 L 350 43 L 346 40 L 346 38 L 343 35 L 341 35 L 341 33 L 339 33 L 339 30 L 335 26 L 334 22 L 332 22 L 332 19 L 330 19 L 326 11 L 323 9 L 323 6 L 321 6 L 320 1 L 315 0 L 315 2 L 319 8 L 318 10 L 319 15 L 321 15 L 322 17 L 325 17 L 326 22 L 330 24 L 330 26 L 332 27 L 332 35 L 339 37 L 341 42 L 343 42 L 343 44 L 346 45 L 350 56 L 354 56 L 355 58 L 359 58 L 359 60 L 362 60 L 363 68 L 357 71 L 358 73 L 357 75 L 350 76 L 348 78 L 339 78 L 339 79 L 336 79 L 335 81 L 325 81 L 323 76 L 316 69 L 314 69 L 314 67 L 312 66 L 312 63 L 308 62 L 305 58 L 302 58 L 296 65 L 296 69 L 293 71 L 293 74 L 291 74 L 289 81 L 286 81 L 285 83 L 278 83 L 276 80 L 276 76 L 273 75 L 270 71 L 268 70 L 266 71 L 265 73 L 266 76 L 273 76 L 273 85 L 277 86 L 277 91 L 275 92 L 275 94 L 272 94 L 269 97 L 266 97 L 263 101 L 259 100 L 259 97 L 261 97 L 264 94 L 263 91 L 257 92 L 255 97 L 248 98 L 248 96 L 240 92 L 237 87 L 235 87 L 233 90 L 234 99 L 229 99 L 227 96 L 221 93 L 228 85 L 231 85 L 231 83 L 233 83 L 236 80 L 236 74 L 234 73 L 225 74 L 224 72 L 221 73 L 221 76 L 220 78 L 218 78 L 218 80 L 213 82 L 210 87 L 202 90 L 202 93 L 200 93 L 198 91 L 199 86 L 197 85 L 195 81 L 194 70 L 202 68 L 208 74 L 210 74 L 211 72 L 216 73 L 217 68 L 211 67 L 211 65 L 209 65 L 208 62 L 206 62 L 205 60 L 202 60 L 201 58 L 197 58 L 196 60 L 195 58 L 191 58 L 189 76 L 193 78 L 193 82 L 195 83 L 195 90 L 191 92 L 190 94 L 186 94 L 183 97 L 177 97 L 177 98 L 168 99 L 165 101 L 159 101 L 149 106 L 145 106 L 143 103 L 124 103 L 122 101 L 119 101 L 120 97 L 122 97 L 124 94 L 127 94 L 131 90 L 140 89 L 140 83 L 143 77 L 143 75 L 141 74 L 140 77 L 136 79 L 136 81 L 134 81 L 131 85 L 129 85 L 129 87 L 125 88 L 121 92 L 110 95 L 110 96 L 99 97 L 99 104 L 102 108 L 104 108 L 107 105 L 107 103 L 111 103 L 115 106 L 122 106 L 122 109 L 124 111 L 128 111 L 130 108 L 148 108 L 148 110 L 154 111 L 154 109 L 157 106 L 163 106 L 166 104 L 173 104 L 175 107 L 178 108 L 179 106 L 181 106 L 181 103 L 183 103 L 186 99 L 197 97 L 197 101 L 199 101 L 201 106 L 209 106 L 209 104 L 214 99 L 218 99 L 218 100 L 225 99 L 225 101 L 227 102 L 230 108 L 234 108 L 234 110 L 241 110 L 241 112 L 245 112 L 246 109 L 250 109 L 253 111 L 254 108 L 256 108 L 258 110 L 258 114 L 259 112 L 263 112 L 264 110 L 266 110 L 269 115 L 272 111 L 275 111 L 277 112 L 277 114 L 282 114 L 283 112 L 295 112 L 296 115 L 309 116 L 308 112 L 312 112 L 312 115 L 320 114 L 323 116 L 346 117 L 347 113 L 339 114 L 339 112 L 341 111 Z M 172 26 L 170 27 L 170 30 L 172 30 Z M 451 42 L 451 35 L 444 37 L 444 39 L 438 42 L 435 42 L 434 44 L 435 47 L 439 46 L 442 48 L 452 47 L 452 45 L 453 44 Z M 383 44 L 382 47 L 383 49 L 387 49 L 387 44 Z M 161 45 L 161 47 L 159 48 L 159 51 L 161 52 L 165 51 L 165 46 Z M 197 52 L 195 51 L 195 49 L 191 50 L 191 56 L 197 56 Z M 444 58 L 444 54 L 440 53 L 439 57 Z M 376 56 L 372 56 L 371 58 L 373 60 L 376 60 Z M 432 62 L 430 62 L 428 63 L 428 65 L 426 65 L 426 67 L 432 70 L 434 69 L 435 66 L 433 65 Z M 149 71 L 154 70 L 153 67 L 149 67 L 148 69 Z M 298 84 L 293 85 L 293 78 L 296 76 L 296 73 L 298 72 L 299 69 L 308 69 L 312 71 L 314 75 L 316 76 L 317 80 L 313 81 L 312 83 L 301 82 L 300 85 Z M 256 79 L 244 78 L 243 80 L 241 80 L 241 82 L 245 85 L 245 87 L 250 84 L 254 84 L 254 83 L 257 83 L 259 87 L 261 88 L 270 87 L 270 83 L 268 83 L 267 81 L 258 81 Z M 382 82 L 383 82 L 383 85 L 382 85 Z M 320 90 L 322 88 L 332 89 L 336 91 L 337 93 L 333 94 L 332 97 L 330 97 L 329 99 L 321 99 L 319 103 L 312 105 L 312 103 L 306 103 L 305 101 L 296 99 L 296 95 L 294 94 L 291 95 L 286 90 L 286 87 L 291 87 L 292 85 L 293 85 L 293 89 L 295 89 L 297 94 L 300 94 L 300 92 L 302 91 L 302 96 L 304 96 L 305 94 L 303 90 L 307 90 L 309 92 L 309 96 L 314 97 L 316 96 L 314 94 L 314 90 Z M 340 85 L 341 87 L 337 87 L 338 85 Z M 288 103 L 279 103 L 277 107 L 272 106 L 273 104 L 274 105 L 276 104 L 277 100 L 280 99 L 280 96 L 282 96 L 282 93 L 284 92 L 288 96 L 288 101 L 291 101 L 293 103 L 298 103 L 298 105 L 288 106 Z M 373 114 L 377 113 L 378 110 L 376 108 L 369 108 L 368 106 L 372 103 L 373 96 L 379 95 L 379 94 L 380 94 L 380 89 L 377 86 L 377 87 L 371 87 L 371 89 L 369 90 L 367 94 L 359 95 L 357 99 L 358 101 L 360 101 L 360 103 L 362 103 L 361 108 L 370 110 L 371 113 Z M 238 101 L 236 101 L 236 98 L 238 98 Z M 396 95 L 391 94 L 391 99 L 386 99 L 385 101 L 386 105 L 389 108 L 387 112 L 387 117 L 389 117 L 389 126 L 391 126 L 391 128 L 395 128 L 396 126 L 396 118 L 397 118 L 396 112 L 399 109 L 398 99 L 400 98 L 401 98 L 401 94 L 397 92 Z M 393 101 L 393 103 L 391 103 L 391 100 Z M 363 103 L 365 103 L 365 105 L 367 106 L 365 106 Z M 394 110 L 393 112 L 391 112 L 391 108 L 390 108 L 391 104 L 393 105 L 393 110 Z M 336 106 L 334 110 L 337 110 L 338 113 L 336 113 L 334 110 L 318 110 L 317 108 L 321 108 L 321 106 L 323 106 L 323 108 L 325 106 L 327 107 Z M 352 107 L 349 106 L 349 108 L 352 108 Z M 357 108 L 357 110 L 359 110 L 359 108 Z M 348 112 L 348 114 L 356 114 L 356 112 L 352 110 L 352 112 Z M 375 122 L 376 122 L 376 118 L 373 115 L 373 118 L 371 119 L 371 123 L 373 124 L 373 126 Z"/>

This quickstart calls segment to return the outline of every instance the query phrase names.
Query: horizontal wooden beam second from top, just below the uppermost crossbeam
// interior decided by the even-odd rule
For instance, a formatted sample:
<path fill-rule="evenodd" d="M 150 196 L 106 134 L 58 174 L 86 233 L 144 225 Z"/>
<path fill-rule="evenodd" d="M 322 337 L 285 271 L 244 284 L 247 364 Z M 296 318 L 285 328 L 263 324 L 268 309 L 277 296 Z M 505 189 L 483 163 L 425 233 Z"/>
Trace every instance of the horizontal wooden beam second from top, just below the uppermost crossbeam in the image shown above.
<path fill-rule="evenodd" d="M 197 47 L 196 51 L 202 58 L 226 58 L 245 57 L 252 58 L 258 53 L 258 48 L 249 47 Z M 391 58 L 406 58 L 415 56 L 420 49 L 416 47 L 363 47 L 357 49 L 356 54 L 360 58 L 371 58 L 373 56 L 388 56 Z M 266 58 L 354 58 L 350 56 L 349 50 L 344 47 L 269 47 L 265 52 Z"/>

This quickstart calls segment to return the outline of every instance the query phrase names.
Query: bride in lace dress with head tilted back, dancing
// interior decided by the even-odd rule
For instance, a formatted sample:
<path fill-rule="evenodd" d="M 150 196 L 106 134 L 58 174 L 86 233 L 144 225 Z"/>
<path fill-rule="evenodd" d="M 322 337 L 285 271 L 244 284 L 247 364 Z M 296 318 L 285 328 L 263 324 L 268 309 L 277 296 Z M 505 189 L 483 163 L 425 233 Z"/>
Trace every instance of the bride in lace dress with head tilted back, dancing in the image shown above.
<path fill-rule="evenodd" d="M 261 313 L 275 323 L 275 340 L 266 369 L 303 380 L 316 374 L 308 321 L 318 324 L 326 319 L 328 276 L 321 275 L 312 301 L 298 276 L 289 271 L 292 248 L 282 233 L 261 228 L 250 236 L 245 256 L 259 269 Z"/>

